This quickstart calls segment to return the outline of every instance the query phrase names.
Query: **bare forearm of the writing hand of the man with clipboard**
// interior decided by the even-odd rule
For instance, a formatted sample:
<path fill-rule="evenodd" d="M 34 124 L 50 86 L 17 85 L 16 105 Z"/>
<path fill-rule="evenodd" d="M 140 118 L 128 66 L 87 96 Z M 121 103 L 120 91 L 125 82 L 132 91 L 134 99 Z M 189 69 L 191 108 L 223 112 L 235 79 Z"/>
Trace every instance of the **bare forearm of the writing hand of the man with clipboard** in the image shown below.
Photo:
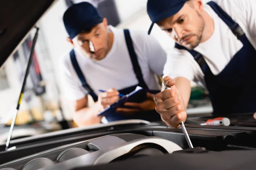
<path fill-rule="evenodd" d="M 81 108 L 78 111 L 75 111 L 73 120 L 79 127 L 98 124 L 102 119 L 102 116 L 97 116 L 99 112 L 99 104 L 96 102 L 93 107 Z"/>

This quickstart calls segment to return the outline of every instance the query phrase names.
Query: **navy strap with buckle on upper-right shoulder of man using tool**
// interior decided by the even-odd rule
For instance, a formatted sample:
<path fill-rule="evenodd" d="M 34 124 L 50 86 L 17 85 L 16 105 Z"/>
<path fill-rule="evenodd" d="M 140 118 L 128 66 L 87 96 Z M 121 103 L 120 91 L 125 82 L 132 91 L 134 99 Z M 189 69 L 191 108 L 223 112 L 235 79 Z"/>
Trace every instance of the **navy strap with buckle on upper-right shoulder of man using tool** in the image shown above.
<path fill-rule="evenodd" d="M 218 6 L 217 3 L 210 1 L 207 4 L 213 9 L 213 11 L 215 11 L 216 14 L 218 14 L 221 20 L 223 20 L 224 23 L 227 24 L 227 26 L 231 29 L 233 34 L 235 34 L 238 39 L 242 35 L 244 35 L 244 31 L 239 26 L 239 24 L 236 23 L 220 6 Z"/>

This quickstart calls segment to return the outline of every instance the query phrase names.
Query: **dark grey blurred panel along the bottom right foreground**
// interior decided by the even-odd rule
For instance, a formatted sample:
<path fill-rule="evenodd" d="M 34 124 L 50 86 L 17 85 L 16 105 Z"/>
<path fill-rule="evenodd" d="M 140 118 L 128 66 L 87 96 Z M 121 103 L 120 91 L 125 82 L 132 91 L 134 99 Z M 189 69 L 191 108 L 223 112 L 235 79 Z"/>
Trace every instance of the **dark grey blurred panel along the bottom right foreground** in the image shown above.
<path fill-rule="evenodd" d="M 172 153 L 66 170 L 255 170 L 256 151 Z M 50 170 L 46 168 L 44 170 Z"/>

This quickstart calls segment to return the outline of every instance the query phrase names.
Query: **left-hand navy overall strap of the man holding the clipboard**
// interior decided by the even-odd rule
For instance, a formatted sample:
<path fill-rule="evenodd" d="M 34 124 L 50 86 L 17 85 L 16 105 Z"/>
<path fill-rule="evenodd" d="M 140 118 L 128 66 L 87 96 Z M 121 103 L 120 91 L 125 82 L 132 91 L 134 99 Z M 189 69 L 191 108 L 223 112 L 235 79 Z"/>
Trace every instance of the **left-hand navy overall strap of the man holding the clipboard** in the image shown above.
<path fill-rule="evenodd" d="M 76 74 L 78 75 L 81 83 L 82 83 L 82 86 L 85 88 L 85 90 L 90 94 L 90 96 L 92 96 L 94 102 L 96 102 L 98 100 L 98 96 L 93 92 L 93 89 L 90 88 L 90 86 L 87 84 L 85 78 L 84 78 L 84 75 L 78 65 L 78 62 L 76 60 L 76 54 L 75 54 L 75 51 L 74 49 L 72 49 L 70 51 L 70 59 L 71 59 L 71 62 L 72 62 L 72 65 L 76 71 Z"/>

